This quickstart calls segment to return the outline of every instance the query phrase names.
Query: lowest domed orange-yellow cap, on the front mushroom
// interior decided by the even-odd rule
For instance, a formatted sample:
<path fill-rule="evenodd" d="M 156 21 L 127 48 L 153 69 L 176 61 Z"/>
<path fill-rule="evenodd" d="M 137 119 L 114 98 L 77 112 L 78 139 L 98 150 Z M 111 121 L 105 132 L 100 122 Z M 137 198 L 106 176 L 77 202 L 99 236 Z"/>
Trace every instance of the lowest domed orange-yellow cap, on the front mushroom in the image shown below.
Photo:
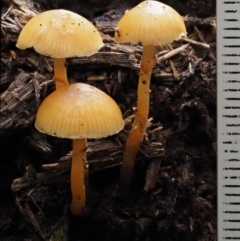
<path fill-rule="evenodd" d="M 40 105 L 35 122 L 40 132 L 69 139 L 106 137 L 118 133 L 123 125 L 116 102 L 83 83 L 52 92 Z"/>

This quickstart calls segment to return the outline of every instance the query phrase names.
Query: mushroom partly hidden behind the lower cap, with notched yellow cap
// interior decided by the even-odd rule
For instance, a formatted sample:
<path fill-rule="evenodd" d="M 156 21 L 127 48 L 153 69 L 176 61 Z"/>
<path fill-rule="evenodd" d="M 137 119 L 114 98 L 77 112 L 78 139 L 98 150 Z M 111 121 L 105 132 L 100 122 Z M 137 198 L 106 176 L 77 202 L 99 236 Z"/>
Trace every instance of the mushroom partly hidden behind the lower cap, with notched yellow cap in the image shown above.
<path fill-rule="evenodd" d="M 66 58 L 90 56 L 102 46 L 95 26 L 71 11 L 58 9 L 42 12 L 23 27 L 16 46 L 33 47 L 38 53 L 54 58 L 56 88 L 68 85 Z"/>

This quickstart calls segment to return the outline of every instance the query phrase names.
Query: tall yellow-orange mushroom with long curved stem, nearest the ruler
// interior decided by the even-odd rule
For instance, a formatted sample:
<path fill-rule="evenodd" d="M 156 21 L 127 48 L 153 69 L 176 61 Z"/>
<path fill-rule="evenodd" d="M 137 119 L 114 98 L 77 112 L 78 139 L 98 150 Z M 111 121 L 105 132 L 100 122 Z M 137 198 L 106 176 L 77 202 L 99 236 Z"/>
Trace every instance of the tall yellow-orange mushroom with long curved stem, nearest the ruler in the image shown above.
<path fill-rule="evenodd" d="M 116 42 L 143 45 L 135 120 L 123 152 L 120 170 L 119 181 L 123 190 L 129 187 L 137 151 L 148 121 L 155 45 L 169 44 L 186 34 L 183 18 L 170 6 L 157 1 L 141 2 L 126 11 L 117 24 L 114 36 Z"/>

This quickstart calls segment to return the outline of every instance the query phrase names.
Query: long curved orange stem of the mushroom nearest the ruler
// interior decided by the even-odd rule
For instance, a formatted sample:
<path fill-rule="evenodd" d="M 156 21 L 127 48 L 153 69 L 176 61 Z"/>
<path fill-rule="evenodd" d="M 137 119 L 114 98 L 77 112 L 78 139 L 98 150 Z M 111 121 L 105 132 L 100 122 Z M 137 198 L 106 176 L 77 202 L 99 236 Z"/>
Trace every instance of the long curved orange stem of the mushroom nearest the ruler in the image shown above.
<path fill-rule="evenodd" d="M 119 184 L 127 191 L 131 182 L 136 155 L 145 133 L 149 113 L 149 87 L 154 63 L 154 45 L 145 45 L 141 59 L 141 70 L 138 81 L 138 103 L 132 130 L 129 133 L 123 152 Z"/>

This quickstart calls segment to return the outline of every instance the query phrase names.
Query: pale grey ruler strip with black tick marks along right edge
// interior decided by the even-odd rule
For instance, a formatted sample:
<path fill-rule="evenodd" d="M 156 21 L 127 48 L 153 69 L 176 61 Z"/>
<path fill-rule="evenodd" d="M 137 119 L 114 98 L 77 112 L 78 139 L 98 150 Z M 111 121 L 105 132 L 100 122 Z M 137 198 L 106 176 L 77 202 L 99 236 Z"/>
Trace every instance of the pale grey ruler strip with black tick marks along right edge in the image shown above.
<path fill-rule="evenodd" d="M 217 0 L 217 120 L 217 240 L 240 240 L 240 0 Z"/>

